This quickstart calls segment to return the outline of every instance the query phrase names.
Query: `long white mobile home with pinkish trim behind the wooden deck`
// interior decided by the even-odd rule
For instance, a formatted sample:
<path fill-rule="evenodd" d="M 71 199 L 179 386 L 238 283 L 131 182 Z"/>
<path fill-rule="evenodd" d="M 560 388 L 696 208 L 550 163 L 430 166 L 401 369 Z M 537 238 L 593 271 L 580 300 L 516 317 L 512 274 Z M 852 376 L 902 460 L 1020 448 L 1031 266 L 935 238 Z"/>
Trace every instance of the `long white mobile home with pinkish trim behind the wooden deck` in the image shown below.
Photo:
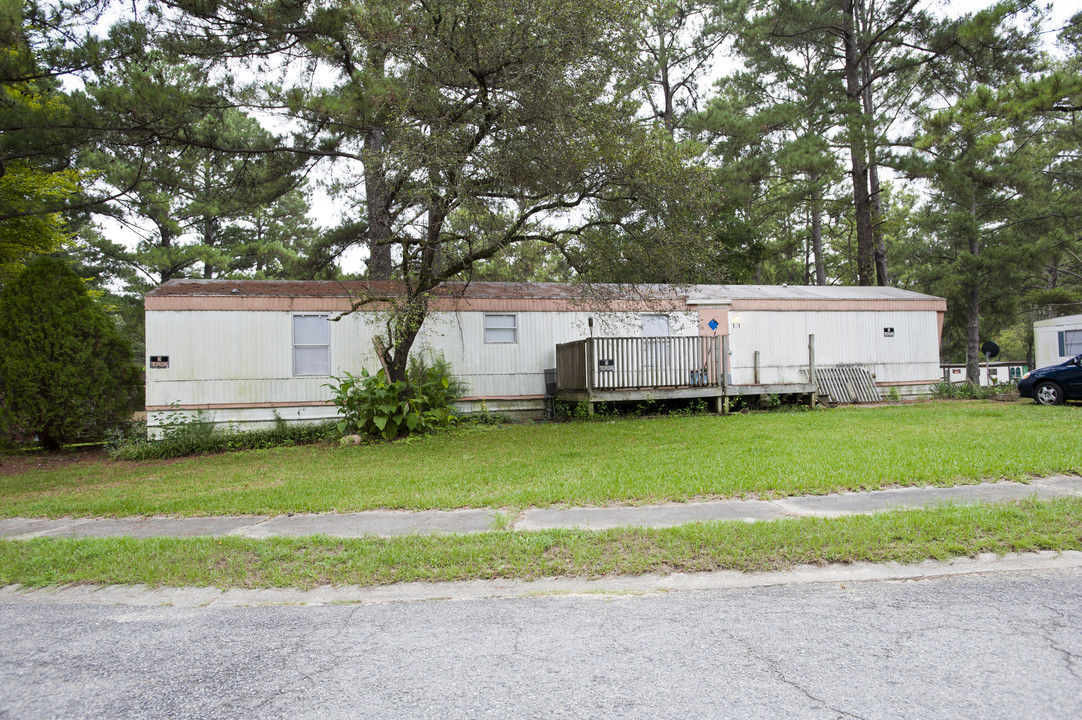
<path fill-rule="evenodd" d="M 332 377 L 379 369 L 380 307 L 343 315 L 370 287 L 186 279 L 151 290 L 150 431 L 177 410 L 237 424 L 334 417 Z M 464 408 L 533 416 L 557 344 L 579 353 L 586 385 L 660 398 L 717 395 L 722 384 L 731 394 L 806 391 L 815 336 L 817 367 L 859 366 L 881 389 L 918 394 L 940 379 L 945 312 L 940 298 L 895 288 L 471 283 L 434 293 L 412 352 L 450 362 L 470 388 Z M 625 340 L 577 350 L 591 338 Z"/>

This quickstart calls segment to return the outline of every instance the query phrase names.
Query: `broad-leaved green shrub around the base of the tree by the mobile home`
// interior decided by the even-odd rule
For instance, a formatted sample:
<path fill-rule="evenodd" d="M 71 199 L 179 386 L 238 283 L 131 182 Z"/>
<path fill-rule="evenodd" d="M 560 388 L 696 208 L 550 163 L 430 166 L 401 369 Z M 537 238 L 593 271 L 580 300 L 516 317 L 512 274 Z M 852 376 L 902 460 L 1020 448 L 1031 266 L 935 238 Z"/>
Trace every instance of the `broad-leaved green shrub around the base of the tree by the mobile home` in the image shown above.
<path fill-rule="evenodd" d="M 450 374 L 443 358 L 432 365 L 410 363 L 407 380 L 387 380 L 381 369 L 360 377 L 345 374 L 327 387 L 334 392 L 334 405 L 343 435 L 361 433 L 394 440 L 401 435 L 444 428 L 454 422 L 454 400 L 463 384 Z"/>

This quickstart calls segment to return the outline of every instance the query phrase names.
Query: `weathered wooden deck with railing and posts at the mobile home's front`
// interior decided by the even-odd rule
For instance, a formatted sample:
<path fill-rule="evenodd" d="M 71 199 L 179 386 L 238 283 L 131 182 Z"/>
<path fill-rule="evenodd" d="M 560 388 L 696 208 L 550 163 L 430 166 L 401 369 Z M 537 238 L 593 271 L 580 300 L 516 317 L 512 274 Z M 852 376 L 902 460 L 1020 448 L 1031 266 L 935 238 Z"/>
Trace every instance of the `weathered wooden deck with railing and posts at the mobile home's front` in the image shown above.
<path fill-rule="evenodd" d="M 815 339 L 809 338 L 810 382 L 734 385 L 728 382 L 728 338 L 588 338 L 556 345 L 556 398 L 571 403 L 710 398 L 717 413 L 742 396 L 817 393 Z M 757 377 L 757 374 L 756 374 Z"/>

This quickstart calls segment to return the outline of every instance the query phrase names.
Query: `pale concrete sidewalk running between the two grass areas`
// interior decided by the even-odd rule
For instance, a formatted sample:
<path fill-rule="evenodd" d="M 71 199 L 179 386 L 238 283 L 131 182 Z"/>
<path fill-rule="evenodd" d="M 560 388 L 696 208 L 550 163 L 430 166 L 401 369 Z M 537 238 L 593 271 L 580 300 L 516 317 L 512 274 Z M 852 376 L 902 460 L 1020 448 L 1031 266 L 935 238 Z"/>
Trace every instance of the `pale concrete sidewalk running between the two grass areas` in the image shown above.
<path fill-rule="evenodd" d="M 611 508 L 538 508 L 507 519 L 496 510 L 372 510 L 367 512 L 241 515 L 211 518 L 11 518 L 0 520 L 0 537 L 394 537 L 552 528 L 672 527 L 713 521 L 770 521 L 781 518 L 836 518 L 887 510 L 974 505 L 1025 498 L 1082 497 L 1082 477 L 1055 475 L 1024 483 L 982 483 L 953 487 L 902 487 L 870 493 L 789 497 L 779 500 L 717 500 Z"/>

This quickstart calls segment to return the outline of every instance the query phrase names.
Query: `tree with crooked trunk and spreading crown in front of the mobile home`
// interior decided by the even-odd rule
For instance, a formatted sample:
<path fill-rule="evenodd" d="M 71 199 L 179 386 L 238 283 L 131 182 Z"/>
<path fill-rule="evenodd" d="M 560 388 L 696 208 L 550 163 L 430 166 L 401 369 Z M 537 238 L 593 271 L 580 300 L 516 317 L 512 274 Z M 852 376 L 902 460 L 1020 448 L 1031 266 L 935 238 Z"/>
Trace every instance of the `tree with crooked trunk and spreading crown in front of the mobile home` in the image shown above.
<path fill-rule="evenodd" d="M 343 236 L 366 238 L 370 278 L 401 284 L 357 299 L 393 303 L 380 350 L 392 379 L 436 288 L 516 243 L 609 222 L 598 207 L 655 192 L 651 162 L 670 159 L 631 100 L 634 3 L 177 4 L 188 44 L 174 47 L 249 58 L 261 81 L 238 102 L 281 108 L 291 152 L 338 162 L 357 209 Z M 287 63 L 294 75 L 267 81 Z M 460 211 L 483 232 L 458 234 Z"/>

